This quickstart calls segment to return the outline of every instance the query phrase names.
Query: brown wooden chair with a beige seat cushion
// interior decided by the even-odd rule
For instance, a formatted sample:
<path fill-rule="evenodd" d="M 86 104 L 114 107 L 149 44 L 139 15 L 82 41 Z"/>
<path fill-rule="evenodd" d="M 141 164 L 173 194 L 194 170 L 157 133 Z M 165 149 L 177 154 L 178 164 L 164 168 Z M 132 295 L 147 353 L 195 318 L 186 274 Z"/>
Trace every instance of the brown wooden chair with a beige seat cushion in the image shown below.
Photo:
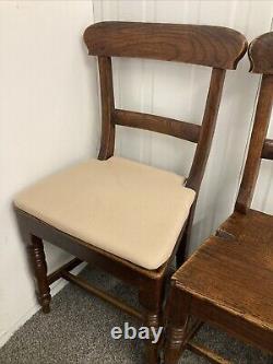
<path fill-rule="evenodd" d="M 102 141 L 90 160 L 45 178 L 15 198 L 43 310 L 49 285 L 63 278 L 158 327 L 168 267 L 189 233 L 218 111 L 225 70 L 244 56 L 246 38 L 229 28 L 201 25 L 103 22 L 84 33 L 98 57 Z M 115 108 L 111 57 L 152 58 L 212 68 L 202 125 Z M 189 178 L 114 156 L 116 126 L 141 128 L 197 143 Z M 76 258 L 47 275 L 43 239 Z M 183 243 L 181 243 L 183 242 Z M 70 270 L 81 261 L 98 266 L 139 290 L 143 310 L 92 286 Z M 157 345 L 147 344 L 157 362 Z"/>

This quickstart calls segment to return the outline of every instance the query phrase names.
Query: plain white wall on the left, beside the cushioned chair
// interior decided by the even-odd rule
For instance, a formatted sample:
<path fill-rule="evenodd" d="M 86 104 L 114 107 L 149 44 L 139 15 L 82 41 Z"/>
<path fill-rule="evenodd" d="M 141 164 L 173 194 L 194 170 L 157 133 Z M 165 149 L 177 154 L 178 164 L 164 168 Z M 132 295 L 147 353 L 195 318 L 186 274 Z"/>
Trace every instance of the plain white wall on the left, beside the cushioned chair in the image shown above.
<path fill-rule="evenodd" d="M 92 22 L 91 1 L 0 2 L 0 344 L 37 308 L 12 197 L 96 154 L 96 64 L 82 42 Z M 50 270 L 69 259 L 47 253 Z"/>

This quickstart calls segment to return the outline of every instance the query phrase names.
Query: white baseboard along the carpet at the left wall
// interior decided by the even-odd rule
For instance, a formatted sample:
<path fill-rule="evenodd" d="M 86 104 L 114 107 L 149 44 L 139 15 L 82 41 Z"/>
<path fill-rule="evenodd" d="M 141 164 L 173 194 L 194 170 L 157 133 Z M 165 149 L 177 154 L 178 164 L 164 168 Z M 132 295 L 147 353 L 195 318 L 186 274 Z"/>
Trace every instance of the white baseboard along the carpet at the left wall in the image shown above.
<path fill-rule="evenodd" d="M 74 274 L 79 274 L 86 267 L 86 262 L 81 263 L 76 268 L 72 270 Z M 58 292 L 60 292 L 68 282 L 63 279 L 59 279 L 50 285 L 51 296 L 55 296 Z M 32 308 L 29 308 L 16 322 L 11 325 L 8 331 L 3 331 L 0 333 L 0 348 L 5 344 L 5 342 L 13 336 L 17 329 L 23 326 L 33 315 L 35 315 L 40 309 L 40 305 L 36 303 Z"/>

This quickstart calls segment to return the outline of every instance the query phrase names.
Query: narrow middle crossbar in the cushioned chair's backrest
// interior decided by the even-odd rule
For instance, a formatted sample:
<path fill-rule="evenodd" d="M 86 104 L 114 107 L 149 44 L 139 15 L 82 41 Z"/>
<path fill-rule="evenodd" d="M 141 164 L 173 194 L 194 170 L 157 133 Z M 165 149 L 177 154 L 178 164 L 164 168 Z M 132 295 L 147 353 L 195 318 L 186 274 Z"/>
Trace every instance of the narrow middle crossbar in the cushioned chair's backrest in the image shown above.
<path fill-rule="evenodd" d="M 186 139 L 197 143 L 201 127 L 195 124 L 175 120 L 162 116 L 115 109 L 114 121 L 117 125 L 156 131 Z"/>

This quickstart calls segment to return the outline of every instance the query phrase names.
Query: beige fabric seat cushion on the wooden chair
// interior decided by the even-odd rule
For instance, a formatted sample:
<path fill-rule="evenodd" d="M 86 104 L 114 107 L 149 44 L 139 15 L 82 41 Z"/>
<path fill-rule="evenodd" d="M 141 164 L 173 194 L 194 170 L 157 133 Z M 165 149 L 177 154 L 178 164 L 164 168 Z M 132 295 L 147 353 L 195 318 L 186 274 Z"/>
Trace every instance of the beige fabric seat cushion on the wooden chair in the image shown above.
<path fill-rule="evenodd" d="M 88 160 L 25 189 L 15 206 L 146 269 L 170 256 L 195 192 L 185 177 L 121 157 Z"/>

